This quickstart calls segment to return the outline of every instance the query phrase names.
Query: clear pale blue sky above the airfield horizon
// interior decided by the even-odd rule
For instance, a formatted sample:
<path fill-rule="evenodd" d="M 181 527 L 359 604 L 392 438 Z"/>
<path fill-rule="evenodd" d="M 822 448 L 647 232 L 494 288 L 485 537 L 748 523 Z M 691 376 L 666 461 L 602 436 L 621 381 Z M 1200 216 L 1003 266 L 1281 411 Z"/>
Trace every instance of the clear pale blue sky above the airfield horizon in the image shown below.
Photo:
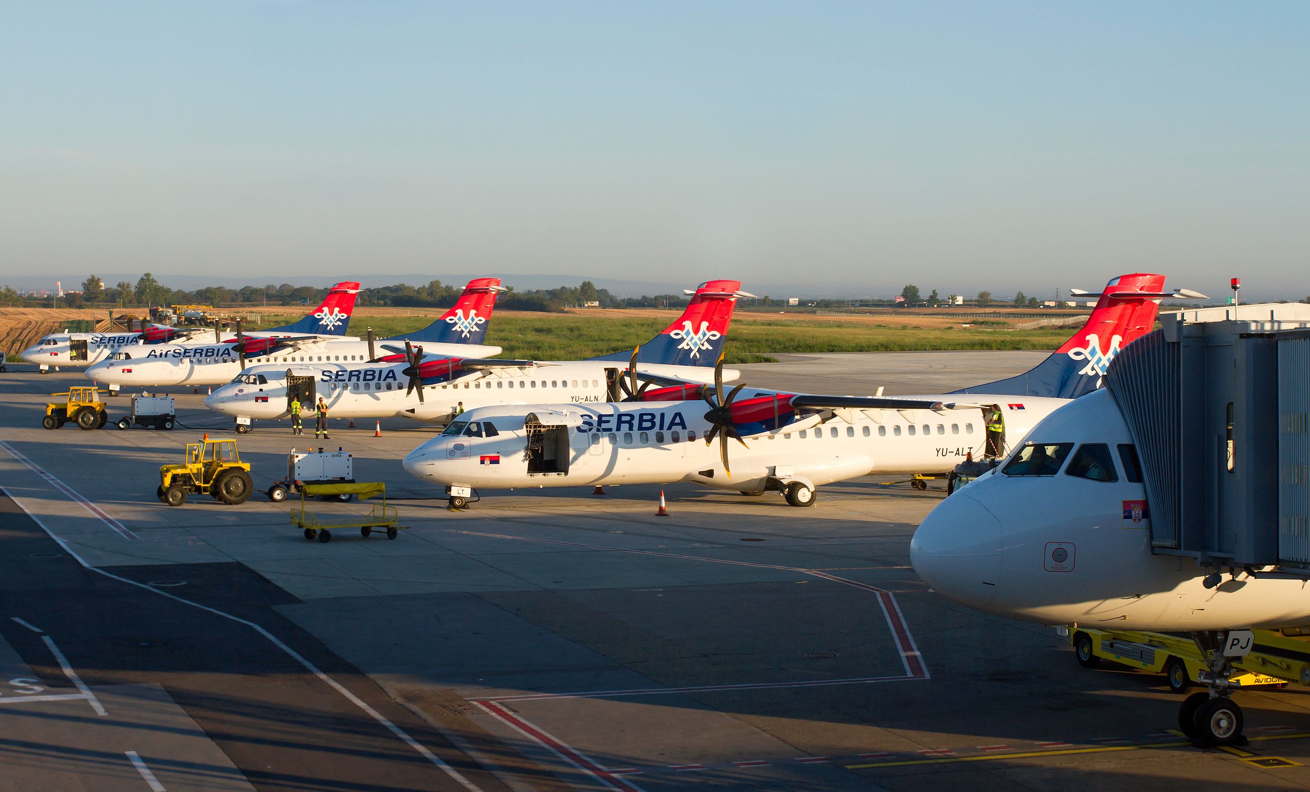
<path fill-rule="evenodd" d="M 1307 34 L 1305 3 L 3 3 L 0 279 L 1305 296 Z"/>

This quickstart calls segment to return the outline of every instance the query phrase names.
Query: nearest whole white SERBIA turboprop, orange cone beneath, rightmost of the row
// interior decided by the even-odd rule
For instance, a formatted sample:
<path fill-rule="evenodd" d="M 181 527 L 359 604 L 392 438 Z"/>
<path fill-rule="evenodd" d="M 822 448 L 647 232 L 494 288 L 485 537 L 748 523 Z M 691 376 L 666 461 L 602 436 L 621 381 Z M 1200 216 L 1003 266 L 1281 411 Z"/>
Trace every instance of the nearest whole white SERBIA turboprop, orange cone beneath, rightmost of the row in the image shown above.
<path fill-rule="evenodd" d="M 738 385 L 724 394 L 722 381 L 714 389 L 656 381 L 665 386 L 643 385 L 621 403 L 538 399 L 472 410 L 411 452 L 405 469 L 448 488 L 689 482 L 747 495 L 777 491 L 808 507 L 815 488 L 831 482 L 937 473 L 971 453 L 981 458 L 990 407 L 1002 411 L 1006 435 L 1022 439 L 1099 386 L 1119 348 L 1151 329 L 1159 300 L 1175 296 L 1163 285 L 1162 275 L 1111 280 L 1087 323 L 1036 368 L 962 391 L 831 397 Z M 638 390 L 635 382 L 627 390 Z"/>

